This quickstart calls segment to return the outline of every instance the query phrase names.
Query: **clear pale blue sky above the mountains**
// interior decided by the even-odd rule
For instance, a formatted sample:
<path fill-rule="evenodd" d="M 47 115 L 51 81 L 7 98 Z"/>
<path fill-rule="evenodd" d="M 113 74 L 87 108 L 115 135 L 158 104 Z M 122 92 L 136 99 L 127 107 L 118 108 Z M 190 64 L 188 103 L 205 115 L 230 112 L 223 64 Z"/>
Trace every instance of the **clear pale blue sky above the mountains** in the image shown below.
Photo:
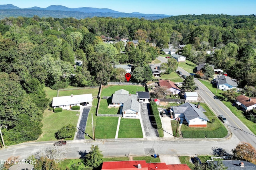
<path fill-rule="evenodd" d="M 19 8 L 62 5 L 68 8 L 109 8 L 111 10 L 142 14 L 256 14 L 256 0 L 0 0 L 0 5 L 13 4 Z"/>

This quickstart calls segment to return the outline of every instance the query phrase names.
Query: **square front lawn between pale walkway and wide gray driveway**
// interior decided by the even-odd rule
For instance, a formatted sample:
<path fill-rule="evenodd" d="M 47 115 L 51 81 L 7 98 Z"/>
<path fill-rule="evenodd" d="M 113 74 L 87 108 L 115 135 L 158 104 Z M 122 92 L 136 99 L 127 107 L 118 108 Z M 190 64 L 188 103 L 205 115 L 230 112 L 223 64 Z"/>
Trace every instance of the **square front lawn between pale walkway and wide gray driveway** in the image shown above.
<path fill-rule="evenodd" d="M 143 138 L 140 120 L 121 118 L 118 138 Z"/>

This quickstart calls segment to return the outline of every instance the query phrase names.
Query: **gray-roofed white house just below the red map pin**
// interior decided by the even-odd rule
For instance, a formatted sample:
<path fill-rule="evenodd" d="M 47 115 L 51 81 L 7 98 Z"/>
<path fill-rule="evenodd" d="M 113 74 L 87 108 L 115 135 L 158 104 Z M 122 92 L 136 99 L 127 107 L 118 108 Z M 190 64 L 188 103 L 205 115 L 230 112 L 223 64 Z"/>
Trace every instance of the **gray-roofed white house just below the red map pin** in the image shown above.
<path fill-rule="evenodd" d="M 127 90 L 117 90 L 112 95 L 112 104 L 109 107 L 120 107 L 120 112 L 124 118 L 139 119 L 140 103 L 138 100 L 138 94 L 129 94 Z"/>

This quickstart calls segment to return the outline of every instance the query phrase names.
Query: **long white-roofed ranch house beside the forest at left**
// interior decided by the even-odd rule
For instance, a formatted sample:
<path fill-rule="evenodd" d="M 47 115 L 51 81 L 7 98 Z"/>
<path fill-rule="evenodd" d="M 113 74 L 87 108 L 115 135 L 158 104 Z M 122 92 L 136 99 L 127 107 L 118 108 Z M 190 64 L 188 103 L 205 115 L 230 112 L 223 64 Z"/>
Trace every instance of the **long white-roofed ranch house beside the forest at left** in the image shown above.
<path fill-rule="evenodd" d="M 54 97 L 52 99 L 52 107 L 55 109 L 70 109 L 72 106 L 92 106 L 92 94 L 70 95 L 62 97 Z"/>

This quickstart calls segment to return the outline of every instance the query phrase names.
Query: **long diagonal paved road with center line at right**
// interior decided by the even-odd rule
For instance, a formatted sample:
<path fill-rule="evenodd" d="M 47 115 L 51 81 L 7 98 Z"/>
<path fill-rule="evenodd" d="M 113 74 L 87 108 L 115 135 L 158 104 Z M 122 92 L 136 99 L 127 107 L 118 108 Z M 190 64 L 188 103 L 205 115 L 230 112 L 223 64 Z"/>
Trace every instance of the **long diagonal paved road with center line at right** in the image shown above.
<path fill-rule="evenodd" d="M 185 75 L 190 75 L 184 69 L 178 67 L 178 70 L 183 72 Z M 238 137 L 240 141 L 250 143 L 256 148 L 256 136 L 236 117 L 230 109 L 228 109 L 216 96 L 210 92 L 206 86 L 204 86 L 198 79 L 194 78 L 194 81 L 198 85 L 198 94 L 204 99 L 208 106 L 212 107 L 216 115 L 224 115 L 229 123 L 226 126 L 232 131 L 234 135 Z"/>

